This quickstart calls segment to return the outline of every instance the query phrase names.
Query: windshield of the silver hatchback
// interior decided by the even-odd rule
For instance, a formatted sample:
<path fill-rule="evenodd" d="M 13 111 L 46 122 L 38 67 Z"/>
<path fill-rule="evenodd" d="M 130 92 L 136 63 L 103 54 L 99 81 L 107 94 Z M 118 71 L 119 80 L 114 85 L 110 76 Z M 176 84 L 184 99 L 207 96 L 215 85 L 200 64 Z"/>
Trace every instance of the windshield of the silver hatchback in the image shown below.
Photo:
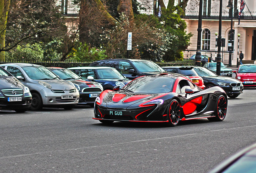
<path fill-rule="evenodd" d="M 50 80 L 58 78 L 51 70 L 44 66 L 26 66 L 22 68 L 29 78 L 34 80 Z"/>

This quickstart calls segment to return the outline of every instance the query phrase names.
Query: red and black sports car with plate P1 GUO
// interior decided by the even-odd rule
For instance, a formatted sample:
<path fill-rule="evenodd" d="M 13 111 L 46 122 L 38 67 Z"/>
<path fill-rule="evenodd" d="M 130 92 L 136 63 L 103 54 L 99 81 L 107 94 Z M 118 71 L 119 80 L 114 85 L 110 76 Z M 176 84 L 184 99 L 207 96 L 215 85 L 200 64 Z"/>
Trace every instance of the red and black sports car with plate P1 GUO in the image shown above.
<path fill-rule="evenodd" d="M 221 87 L 202 90 L 183 76 L 141 76 L 115 89 L 96 98 L 93 119 L 164 122 L 172 127 L 191 119 L 223 121 L 227 113 L 227 95 Z"/>

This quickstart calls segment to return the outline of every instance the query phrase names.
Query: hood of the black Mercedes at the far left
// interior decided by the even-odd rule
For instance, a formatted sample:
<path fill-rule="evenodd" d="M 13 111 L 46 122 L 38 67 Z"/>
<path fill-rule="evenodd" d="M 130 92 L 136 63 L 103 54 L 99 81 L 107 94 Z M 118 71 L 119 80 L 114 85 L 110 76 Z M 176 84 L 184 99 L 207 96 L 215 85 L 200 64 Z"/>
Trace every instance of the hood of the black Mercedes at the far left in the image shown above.
<path fill-rule="evenodd" d="M 23 89 L 24 85 L 12 76 L 0 76 L 0 88 L 1 89 Z"/>

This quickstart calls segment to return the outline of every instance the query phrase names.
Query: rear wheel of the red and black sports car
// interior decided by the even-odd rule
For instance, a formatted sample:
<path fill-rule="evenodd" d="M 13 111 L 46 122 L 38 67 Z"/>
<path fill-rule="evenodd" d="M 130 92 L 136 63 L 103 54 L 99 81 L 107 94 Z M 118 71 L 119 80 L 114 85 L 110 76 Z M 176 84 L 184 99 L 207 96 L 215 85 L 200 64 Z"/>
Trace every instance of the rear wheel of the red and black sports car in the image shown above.
<path fill-rule="evenodd" d="M 208 118 L 210 121 L 223 121 L 227 114 L 227 99 L 223 95 L 220 95 L 217 99 L 215 108 L 215 117 Z"/>

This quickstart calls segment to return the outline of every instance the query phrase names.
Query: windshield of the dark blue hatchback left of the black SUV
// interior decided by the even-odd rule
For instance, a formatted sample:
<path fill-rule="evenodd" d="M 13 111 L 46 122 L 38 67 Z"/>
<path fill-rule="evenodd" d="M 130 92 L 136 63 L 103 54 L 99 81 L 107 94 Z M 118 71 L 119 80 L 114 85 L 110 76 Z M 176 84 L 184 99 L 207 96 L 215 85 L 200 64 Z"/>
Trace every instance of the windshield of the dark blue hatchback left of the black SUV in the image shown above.
<path fill-rule="evenodd" d="M 96 72 L 99 79 L 124 78 L 115 68 L 97 69 Z"/>

